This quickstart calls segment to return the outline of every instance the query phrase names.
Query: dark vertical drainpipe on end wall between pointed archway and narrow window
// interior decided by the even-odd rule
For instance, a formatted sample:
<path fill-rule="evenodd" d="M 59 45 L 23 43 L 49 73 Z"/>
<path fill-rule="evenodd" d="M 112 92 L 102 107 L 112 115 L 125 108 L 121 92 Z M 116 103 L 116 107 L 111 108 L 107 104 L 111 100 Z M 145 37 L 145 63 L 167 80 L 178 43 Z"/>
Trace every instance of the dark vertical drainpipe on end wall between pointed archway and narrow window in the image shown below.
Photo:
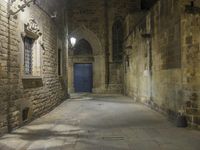
<path fill-rule="evenodd" d="M 109 86 L 110 77 L 110 67 L 109 67 L 109 22 L 108 22 L 108 1 L 104 0 L 104 6 L 105 6 L 105 83 L 106 88 Z"/>

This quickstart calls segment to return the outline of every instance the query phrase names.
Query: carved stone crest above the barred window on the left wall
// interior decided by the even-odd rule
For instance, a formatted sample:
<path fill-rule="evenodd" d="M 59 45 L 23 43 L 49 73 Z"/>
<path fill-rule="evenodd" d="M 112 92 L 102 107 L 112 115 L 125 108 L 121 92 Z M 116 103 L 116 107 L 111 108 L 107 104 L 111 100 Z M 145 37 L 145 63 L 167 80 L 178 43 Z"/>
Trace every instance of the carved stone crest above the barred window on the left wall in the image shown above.
<path fill-rule="evenodd" d="M 37 39 L 42 35 L 38 23 L 34 18 L 29 19 L 29 21 L 24 24 L 24 28 L 25 32 L 22 33 L 23 37 L 28 36 Z"/>

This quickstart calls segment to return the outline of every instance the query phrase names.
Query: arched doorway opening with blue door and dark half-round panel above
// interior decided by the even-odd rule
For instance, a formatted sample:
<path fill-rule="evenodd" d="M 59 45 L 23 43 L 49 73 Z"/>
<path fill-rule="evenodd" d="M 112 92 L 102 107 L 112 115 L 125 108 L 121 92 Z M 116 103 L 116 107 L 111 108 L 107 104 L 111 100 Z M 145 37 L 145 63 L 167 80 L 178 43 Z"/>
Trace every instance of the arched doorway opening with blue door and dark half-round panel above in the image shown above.
<path fill-rule="evenodd" d="M 73 49 L 73 56 L 79 60 L 74 63 L 75 92 L 92 92 L 93 64 L 90 58 L 93 57 L 93 51 L 90 43 L 85 39 L 79 40 Z"/>

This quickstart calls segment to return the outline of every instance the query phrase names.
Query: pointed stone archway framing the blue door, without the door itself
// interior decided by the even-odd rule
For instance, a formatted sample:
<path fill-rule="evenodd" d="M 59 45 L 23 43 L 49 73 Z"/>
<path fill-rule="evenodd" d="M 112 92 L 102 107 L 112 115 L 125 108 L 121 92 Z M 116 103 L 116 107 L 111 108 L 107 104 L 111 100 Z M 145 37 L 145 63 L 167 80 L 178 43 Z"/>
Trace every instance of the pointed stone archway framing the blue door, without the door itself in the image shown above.
<path fill-rule="evenodd" d="M 93 93 L 105 92 L 105 55 L 104 49 L 101 45 L 100 40 L 94 32 L 87 29 L 85 26 L 81 26 L 71 32 L 69 37 L 77 39 L 77 43 L 81 40 L 87 41 L 92 48 L 91 55 L 78 56 L 73 55 L 73 49 L 69 50 L 69 71 L 68 71 L 68 87 L 69 92 L 74 92 L 74 70 L 75 64 L 79 63 L 90 63 L 93 65 Z"/>

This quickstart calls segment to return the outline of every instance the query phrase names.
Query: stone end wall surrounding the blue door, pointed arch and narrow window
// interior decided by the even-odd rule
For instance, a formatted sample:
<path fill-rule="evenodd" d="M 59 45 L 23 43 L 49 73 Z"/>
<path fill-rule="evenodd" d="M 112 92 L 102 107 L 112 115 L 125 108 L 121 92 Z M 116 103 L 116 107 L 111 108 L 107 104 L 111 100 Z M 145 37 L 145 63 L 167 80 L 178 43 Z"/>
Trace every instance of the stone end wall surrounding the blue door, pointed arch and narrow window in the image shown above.
<path fill-rule="evenodd" d="M 117 18 L 140 9 L 140 0 L 70 1 L 68 8 L 69 35 L 87 40 L 93 48 L 94 61 L 82 61 L 69 54 L 69 90 L 74 92 L 74 63 L 93 63 L 93 92 L 122 92 L 122 63 L 112 59 L 112 26 Z M 92 37 L 92 38 L 91 38 Z M 71 49 L 73 51 L 73 49 Z"/>

